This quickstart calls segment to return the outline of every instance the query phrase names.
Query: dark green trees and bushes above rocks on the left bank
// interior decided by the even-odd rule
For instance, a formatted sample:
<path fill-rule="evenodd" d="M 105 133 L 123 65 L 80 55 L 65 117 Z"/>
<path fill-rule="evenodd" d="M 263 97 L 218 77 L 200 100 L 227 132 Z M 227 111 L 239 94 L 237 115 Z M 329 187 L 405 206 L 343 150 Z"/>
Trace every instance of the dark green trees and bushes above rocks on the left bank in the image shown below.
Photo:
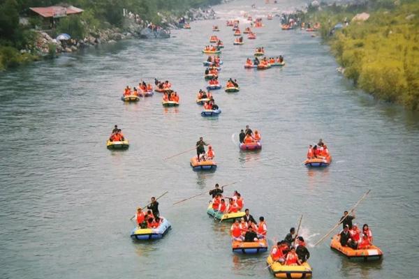
<path fill-rule="evenodd" d="M 32 18 L 30 27 L 19 24 L 19 15 L 29 12 L 29 7 L 52 6 L 67 3 L 84 12 L 80 16 L 61 18 L 59 33 L 71 33 L 73 38 L 83 38 L 88 29 L 122 27 L 125 8 L 140 15 L 142 20 L 161 22 L 161 14 L 180 15 L 189 8 L 214 5 L 221 0 L 3 0 L 0 1 L 0 70 L 24 61 L 36 59 L 33 54 L 20 54 L 18 50 L 30 48 L 36 33 L 31 27 L 39 26 L 41 19 Z"/>

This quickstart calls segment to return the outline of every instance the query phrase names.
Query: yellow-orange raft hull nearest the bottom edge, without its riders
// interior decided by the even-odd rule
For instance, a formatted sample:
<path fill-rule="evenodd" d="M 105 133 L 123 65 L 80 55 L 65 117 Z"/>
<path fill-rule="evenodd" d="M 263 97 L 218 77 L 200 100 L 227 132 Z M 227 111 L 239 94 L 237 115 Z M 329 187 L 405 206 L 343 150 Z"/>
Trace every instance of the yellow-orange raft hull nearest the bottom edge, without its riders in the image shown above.
<path fill-rule="evenodd" d="M 279 262 L 274 262 L 271 256 L 267 257 L 266 264 L 270 272 L 277 278 L 311 278 L 313 271 L 308 262 L 300 266 L 286 266 Z"/>

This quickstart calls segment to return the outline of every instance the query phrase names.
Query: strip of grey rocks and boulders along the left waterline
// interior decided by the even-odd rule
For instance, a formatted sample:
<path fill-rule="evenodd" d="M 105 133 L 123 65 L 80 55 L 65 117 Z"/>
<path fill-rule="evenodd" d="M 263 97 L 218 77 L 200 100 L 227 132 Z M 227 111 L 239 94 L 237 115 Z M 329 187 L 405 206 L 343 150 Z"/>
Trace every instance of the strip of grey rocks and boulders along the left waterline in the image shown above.
<path fill-rule="evenodd" d="M 117 27 L 112 29 L 102 29 L 98 31 L 89 31 L 87 36 L 82 40 L 66 40 L 57 41 L 43 31 L 36 31 L 38 38 L 34 47 L 20 52 L 35 54 L 38 56 L 56 56 L 64 52 L 77 52 L 84 47 L 91 47 L 103 43 L 116 43 L 117 40 L 125 40 L 128 38 L 170 38 L 170 30 L 180 29 L 183 27 L 183 21 L 192 22 L 197 20 L 215 20 L 216 14 L 212 8 L 201 9 L 194 8 L 188 10 L 182 17 L 174 15 L 163 16 L 163 27 L 156 27 L 152 22 L 144 22 L 139 19 L 138 15 L 126 13 L 123 28 Z"/>

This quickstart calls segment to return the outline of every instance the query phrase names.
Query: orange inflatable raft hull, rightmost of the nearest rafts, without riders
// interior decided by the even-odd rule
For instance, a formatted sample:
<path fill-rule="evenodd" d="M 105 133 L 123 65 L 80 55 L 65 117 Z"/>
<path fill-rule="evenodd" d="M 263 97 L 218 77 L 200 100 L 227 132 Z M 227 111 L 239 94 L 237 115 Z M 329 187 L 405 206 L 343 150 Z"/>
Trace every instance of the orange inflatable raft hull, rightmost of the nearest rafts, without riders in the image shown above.
<path fill-rule="evenodd" d="M 337 252 L 340 252 L 341 254 L 345 255 L 346 257 L 348 257 L 348 259 L 358 259 L 367 262 L 374 260 L 376 261 L 383 257 L 383 251 L 381 251 L 381 249 L 377 246 L 372 245 L 369 246 L 368 249 L 355 250 L 350 247 L 341 246 L 339 240 L 339 235 L 333 236 L 332 242 L 330 243 L 330 248 L 332 248 L 333 250 L 337 250 Z"/>

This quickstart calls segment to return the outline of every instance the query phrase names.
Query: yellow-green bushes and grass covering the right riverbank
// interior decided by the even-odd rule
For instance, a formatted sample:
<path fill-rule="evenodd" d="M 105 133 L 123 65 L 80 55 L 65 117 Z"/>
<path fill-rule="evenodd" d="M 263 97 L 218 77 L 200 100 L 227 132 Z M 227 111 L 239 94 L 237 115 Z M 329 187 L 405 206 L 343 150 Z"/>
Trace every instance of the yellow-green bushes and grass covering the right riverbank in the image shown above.
<path fill-rule="evenodd" d="M 362 12 L 370 14 L 367 21 L 350 22 Z M 345 18 L 348 26 L 330 35 Z M 330 43 L 346 77 L 378 98 L 419 110 L 418 1 L 313 8 L 305 20 L 321 22 L 321 36 Z"/>

